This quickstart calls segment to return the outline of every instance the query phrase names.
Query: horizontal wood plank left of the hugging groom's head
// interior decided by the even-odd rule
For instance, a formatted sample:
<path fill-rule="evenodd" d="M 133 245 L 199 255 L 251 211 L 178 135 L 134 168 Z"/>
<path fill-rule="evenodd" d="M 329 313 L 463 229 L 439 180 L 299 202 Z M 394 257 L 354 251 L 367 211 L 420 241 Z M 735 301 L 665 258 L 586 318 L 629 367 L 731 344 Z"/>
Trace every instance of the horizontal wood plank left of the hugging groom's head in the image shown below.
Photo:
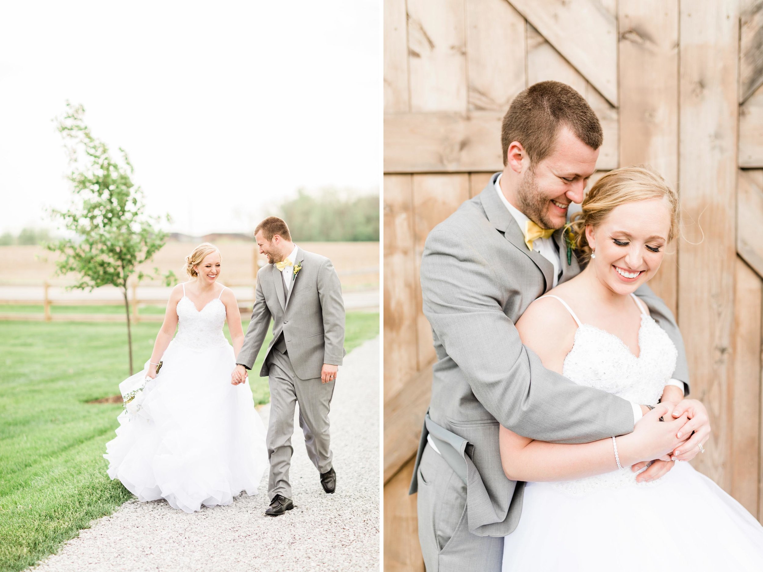
<path fill-rule="evenodd" d="M 496 111 L 385 115 L 387 173 L 502 171 Z"/>

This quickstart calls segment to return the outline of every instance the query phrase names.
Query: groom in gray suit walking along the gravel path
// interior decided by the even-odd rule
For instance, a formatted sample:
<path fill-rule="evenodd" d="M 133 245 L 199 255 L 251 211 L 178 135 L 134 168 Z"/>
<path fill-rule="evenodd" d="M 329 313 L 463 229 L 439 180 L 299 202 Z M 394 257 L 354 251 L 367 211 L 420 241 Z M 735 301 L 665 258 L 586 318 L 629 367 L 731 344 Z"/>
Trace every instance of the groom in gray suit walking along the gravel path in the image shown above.
<path fill-rule="evenodd" d="M 266 218 L 257 225 L 254 237 L 269 265 L 257 272 L 252 320 L 231 382 L 246 381 L 246 370 L 253 367 L 272 318 L 273 339 L 259 374 L 268 376 L 270 387 L 270 506 L 265 513 L 278 516 L 294 508 L 288 471 L 297 403 L 307 456 L 320 473 L 324 490 L 336 490 L 328 414 L 336 371 L 346 353 L 344 302 L 331 261 L 292 243 L 282 219 Z"/>

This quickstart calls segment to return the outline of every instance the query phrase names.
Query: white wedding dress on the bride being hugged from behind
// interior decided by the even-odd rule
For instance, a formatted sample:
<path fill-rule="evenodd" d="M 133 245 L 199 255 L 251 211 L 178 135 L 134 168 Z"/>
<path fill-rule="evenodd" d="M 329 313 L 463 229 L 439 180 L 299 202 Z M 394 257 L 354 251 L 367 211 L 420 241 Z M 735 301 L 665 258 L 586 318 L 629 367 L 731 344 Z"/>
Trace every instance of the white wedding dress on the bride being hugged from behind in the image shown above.
<path fill-rule="evenodd" d="M 581 324 L 557 299 L 578 323 L 565 377 L 656 405 L 677 352 L 655 320 L 642 310 L 636 358 L 620 338 Z M 763 526 L 712 480 L 685 462 L 652 483 L 637 484 L 637 474 L 625 467 L 527 483 L 519 525 L 504 538 L 504 572 L 763 570 Z"/>

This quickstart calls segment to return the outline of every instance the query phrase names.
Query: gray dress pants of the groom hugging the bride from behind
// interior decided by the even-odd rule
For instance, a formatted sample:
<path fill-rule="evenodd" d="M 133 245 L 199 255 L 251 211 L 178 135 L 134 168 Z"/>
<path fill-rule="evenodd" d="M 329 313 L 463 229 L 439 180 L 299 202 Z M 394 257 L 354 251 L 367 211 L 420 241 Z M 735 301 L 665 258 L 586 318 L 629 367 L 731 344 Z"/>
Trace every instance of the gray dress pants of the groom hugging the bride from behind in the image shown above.
<path fill-rule="evenodd" d="M 501 572 L 504 537 L 468 530 L 466 484 L 427 444 L 418 468 L 419 542 L 427 572 Z"/>

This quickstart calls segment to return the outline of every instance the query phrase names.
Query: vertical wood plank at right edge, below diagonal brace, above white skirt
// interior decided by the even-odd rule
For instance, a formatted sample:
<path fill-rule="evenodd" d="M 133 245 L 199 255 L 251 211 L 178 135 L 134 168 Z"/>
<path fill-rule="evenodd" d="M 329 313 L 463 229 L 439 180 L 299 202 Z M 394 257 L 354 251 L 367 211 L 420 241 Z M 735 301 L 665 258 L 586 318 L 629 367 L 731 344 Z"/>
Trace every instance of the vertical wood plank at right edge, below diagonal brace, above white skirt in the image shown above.
<path fill-rule="evenodd" d="M 736 259 L 734 384 L 732 386 L 731 494 L 758 513 L 763 281 Z"/>

